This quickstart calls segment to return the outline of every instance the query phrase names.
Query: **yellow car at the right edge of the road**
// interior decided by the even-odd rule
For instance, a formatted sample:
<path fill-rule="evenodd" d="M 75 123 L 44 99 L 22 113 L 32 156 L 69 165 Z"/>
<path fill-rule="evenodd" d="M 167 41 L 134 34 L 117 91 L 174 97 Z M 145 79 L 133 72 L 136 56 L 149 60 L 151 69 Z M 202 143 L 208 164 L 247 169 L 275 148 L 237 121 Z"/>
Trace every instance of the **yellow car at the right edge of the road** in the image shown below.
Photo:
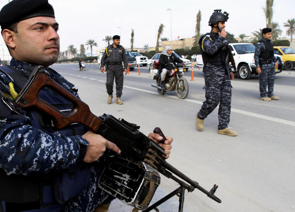
<path fill-rule="evenodd" d="M 295 50 L 289 46 L 274 46 L 273 53 L 281 55 L 286 70 L 292 70 L 295 66 Z"/>

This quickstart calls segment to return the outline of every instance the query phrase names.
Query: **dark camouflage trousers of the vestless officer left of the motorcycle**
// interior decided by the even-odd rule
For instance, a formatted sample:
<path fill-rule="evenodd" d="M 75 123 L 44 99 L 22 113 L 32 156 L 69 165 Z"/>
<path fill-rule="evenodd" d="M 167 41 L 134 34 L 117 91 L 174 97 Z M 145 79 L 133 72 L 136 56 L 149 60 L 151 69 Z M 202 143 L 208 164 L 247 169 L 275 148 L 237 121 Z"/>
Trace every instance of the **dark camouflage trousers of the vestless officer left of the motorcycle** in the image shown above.
<path fill-rule="evenodd" d="M 105 83 L 107 87 L 108 95 L 113 94 L 114 78 L 116 81 L 116 96 L 121 97 L 122 90 L 123 90 L 123 78 L 124 78 L 122 65 L 108 65 L 107 82 Z"/>

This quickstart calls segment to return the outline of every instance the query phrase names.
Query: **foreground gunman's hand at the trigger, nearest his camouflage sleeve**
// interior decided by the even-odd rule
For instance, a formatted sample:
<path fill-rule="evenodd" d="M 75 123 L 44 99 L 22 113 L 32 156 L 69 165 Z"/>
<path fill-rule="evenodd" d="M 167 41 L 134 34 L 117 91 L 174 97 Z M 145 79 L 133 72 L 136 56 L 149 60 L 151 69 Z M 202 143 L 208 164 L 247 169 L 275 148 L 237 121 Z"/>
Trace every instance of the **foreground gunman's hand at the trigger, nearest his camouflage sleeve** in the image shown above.
<path fill-rule="evenodd" d="M 116 144 L 110 142 L 101 135 L 95 134 L 92 131 L 86 132 L 84 135 L 82 135 L 82 137 L 89 142 L 85 158 L 83 159 L 85 163 L 97 161 L 106 149 L 110 149 L 118 154 L 121 152 Z"/>

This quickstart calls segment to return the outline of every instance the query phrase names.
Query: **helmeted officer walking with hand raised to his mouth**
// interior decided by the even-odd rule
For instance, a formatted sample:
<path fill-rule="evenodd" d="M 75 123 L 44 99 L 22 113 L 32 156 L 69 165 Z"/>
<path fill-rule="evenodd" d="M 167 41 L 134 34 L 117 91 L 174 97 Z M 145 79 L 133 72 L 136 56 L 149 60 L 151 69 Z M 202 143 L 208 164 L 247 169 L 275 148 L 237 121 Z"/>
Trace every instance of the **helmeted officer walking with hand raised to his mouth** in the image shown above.
<path fill-rule="evenodd" d="M 204 119 L 217 107 L 218 110 L 218 134 L 236 136 L 237 132 L 230 130 L 230 104 L 231 104 L 231 84 L 230 80 L 234 79 L 234 73 L 228 66 L 226 60 L 226 40 L 225 22 L 228 19 L 228 13 L 221 13 L 221 10 L 214 10 L 210 16 L 209 26 L 211 32 L 206 33 L 200 40 L 204 63 L 204 78 L 206 101 L 196 115 L 196 126 L 199 130 L 204 128 Z"/>

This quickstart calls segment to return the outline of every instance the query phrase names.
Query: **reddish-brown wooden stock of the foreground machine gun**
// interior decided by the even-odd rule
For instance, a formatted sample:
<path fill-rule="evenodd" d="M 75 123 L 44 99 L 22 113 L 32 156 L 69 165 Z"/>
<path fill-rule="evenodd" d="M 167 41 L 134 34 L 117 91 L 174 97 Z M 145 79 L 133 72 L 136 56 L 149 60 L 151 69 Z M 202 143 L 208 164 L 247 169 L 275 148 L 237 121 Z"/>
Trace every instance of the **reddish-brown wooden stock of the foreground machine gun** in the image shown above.
<path fill-rule="evenodd" d="M 68 113 L 62 113 L 46 101 L 42 100 L 38 93 L 42 88 L 48 87 L 63 96 L 65 99 L 73 103 L 73 108 Z M 93 132 L 96 132 L 102 120 L 90 112 L 89 106 L 61 87 L 54 80 L 48 77 L 45 73 L 38 73 L 30 84 L 25 93 L 20 92 L 16 102 L 23 108 L 35 106 L 42 111 L 52 116 L 56 128 L 64 128 L 65 126 L 73 123 L 81 123 L 88 127 Z M 79 110 L 78 110 L 79 108 Z"/>

